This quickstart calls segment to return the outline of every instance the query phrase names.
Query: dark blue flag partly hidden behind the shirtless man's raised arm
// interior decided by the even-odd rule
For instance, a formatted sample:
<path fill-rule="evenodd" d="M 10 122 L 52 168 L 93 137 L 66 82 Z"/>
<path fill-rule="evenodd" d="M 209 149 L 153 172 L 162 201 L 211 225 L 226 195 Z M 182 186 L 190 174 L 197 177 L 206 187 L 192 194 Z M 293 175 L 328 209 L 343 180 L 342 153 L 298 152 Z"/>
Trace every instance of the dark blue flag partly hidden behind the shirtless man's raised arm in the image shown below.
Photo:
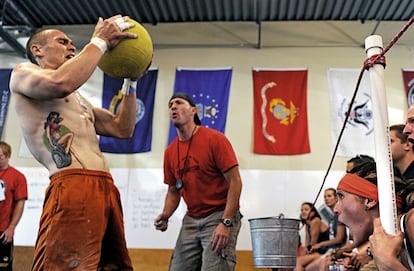
<path fill-rule="evenodd" d="M 137 116 L 135 131 L 132 138 L 117 139 L 101 136 L 99 146 L 108 153 L 139 153 L 151 150 L 152 120 L 154 114 L 155 86 L 158 69 L 151 68 L 137 82 Z M 123 79 L 113 78 L 104 74 L 102 107 L 112 113 L 118 111 L 122 99 L 121 87 Z"/>

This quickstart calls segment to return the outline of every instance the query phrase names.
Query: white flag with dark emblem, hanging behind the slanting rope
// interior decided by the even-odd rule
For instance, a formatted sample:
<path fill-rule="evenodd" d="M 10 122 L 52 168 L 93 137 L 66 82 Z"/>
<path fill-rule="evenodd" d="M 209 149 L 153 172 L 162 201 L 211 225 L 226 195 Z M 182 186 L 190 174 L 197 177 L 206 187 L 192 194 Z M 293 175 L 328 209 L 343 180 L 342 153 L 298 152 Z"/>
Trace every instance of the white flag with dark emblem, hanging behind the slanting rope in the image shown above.
<path fill-rule="evenodd" d="M 359 69 L 328 69 L 332 150 L 345 121 L 359 73 Z M 371 87 L 369 77 L 365 73 L 342 135 L 337 155 L 354 157 L 357 154 L 365 154 L 375 157 L 373 131 Z"/>

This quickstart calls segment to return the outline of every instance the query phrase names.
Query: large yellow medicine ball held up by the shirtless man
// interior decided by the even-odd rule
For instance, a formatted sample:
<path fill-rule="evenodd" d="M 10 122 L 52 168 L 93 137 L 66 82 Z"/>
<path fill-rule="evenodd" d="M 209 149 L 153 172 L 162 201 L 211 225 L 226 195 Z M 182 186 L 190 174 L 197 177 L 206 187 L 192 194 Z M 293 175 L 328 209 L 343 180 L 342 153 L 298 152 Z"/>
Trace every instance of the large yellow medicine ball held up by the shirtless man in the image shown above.
<path fill-rule="evenodd" d="M 134 27 L 125 30 L 138 35 L 136 39 L 123 39 L 107 51 L 98 67 L 107 75 L 116 78 L 138 78 L 151 65 L 153 45 L 148 31 L 135 20 L 129 19 Z"/>

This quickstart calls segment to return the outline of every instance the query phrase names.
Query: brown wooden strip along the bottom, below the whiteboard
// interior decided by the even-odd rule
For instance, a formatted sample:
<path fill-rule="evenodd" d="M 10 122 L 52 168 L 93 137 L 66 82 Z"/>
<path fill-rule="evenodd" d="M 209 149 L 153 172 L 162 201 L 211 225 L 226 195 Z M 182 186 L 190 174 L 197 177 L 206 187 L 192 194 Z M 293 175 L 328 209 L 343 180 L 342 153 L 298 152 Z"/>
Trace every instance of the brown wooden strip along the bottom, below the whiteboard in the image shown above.
<path fill-rule="evenodd" d="M 130 249 L 134 269 L 137 271 L 166 271 L 170 261 L 170 249 Z M 14 248 L 14 270 L 30 271 L 33 247 L 16 246 Z M 252 251 L 237 251 L 236 271 L 271 270 L 254 268 Z"/>

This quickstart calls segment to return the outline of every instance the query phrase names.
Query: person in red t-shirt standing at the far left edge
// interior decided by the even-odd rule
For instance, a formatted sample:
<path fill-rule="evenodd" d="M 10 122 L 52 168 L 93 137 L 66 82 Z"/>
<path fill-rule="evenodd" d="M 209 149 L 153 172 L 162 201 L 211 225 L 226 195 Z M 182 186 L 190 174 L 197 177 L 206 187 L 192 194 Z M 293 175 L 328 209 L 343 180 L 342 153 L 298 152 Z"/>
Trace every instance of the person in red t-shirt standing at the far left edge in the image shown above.
<path fill-rule="evenodd" d="M 11 147 L 0 141 L 0 271 L 13 270 L 14 230 L 27 200 L 26 177 L 9 165 Z"/>

